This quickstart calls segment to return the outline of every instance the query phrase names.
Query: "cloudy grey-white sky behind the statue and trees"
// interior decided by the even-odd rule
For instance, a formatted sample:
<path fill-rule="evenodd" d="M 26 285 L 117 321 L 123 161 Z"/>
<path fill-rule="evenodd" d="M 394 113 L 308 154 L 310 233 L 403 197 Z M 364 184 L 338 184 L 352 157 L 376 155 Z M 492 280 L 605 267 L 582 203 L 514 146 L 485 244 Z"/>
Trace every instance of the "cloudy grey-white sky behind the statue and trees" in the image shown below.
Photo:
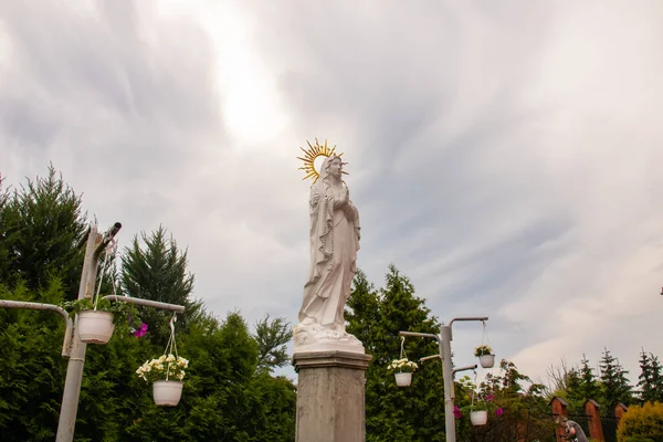
<path fill-rule="evenodd" d="M 64 4 L 69 3 L 69 7 Z M 487 315 L 534 378 L 663 357 L 663 2 L 0 2 L 0 172 L 49 161 L 120 246 L 162 223 L 194 295 L 292 323 L 296 156 L 338 146 L 359 266 Z M 481 324 L 454 325 L 456 365 Z"/>

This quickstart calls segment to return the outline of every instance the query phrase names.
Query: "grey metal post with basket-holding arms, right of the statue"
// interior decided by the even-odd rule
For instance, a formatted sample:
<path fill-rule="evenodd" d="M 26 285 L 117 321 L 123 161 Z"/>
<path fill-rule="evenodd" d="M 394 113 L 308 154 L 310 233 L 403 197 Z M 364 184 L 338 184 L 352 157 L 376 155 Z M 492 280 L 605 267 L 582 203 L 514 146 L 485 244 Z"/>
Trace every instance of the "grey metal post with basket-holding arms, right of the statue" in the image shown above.
<path fill-rule="evenodd" d="M 453 318 L 449 322 L 449 325 L 442 324 L 440 327 L 440 334 L 433 335 L 431 333 L 417 333 L 417 332 L 399 332 L 400 336 L 413 336 L 421 338 L 431 338 L 438 341 L 438 346 L 440 348 L 440 354 L 433 356 L 427 356 L 421 360 L 431 359 L 431 358 L 440 358 L 442 359 L 442 380 L 444 381 L 444 427 L 446 433 L 446 442 L 456 442 L 455 440 L 455 421 L 453 415 L 453 407 L 455 393 L 453 389 L 453 376 L 457 371 L 463 370 L 473 370 L 476 368 L 476 365 L 470 367 L 461 367 L 457 369 L 453 369 L 453 364 L 451 360 L 451 340 L 453 339 L 451 334 L 451 326 L 454 320 L 478 320 L 486 322 L 488 320 L 487 316 L 482 317 L 460 317 Z"/>

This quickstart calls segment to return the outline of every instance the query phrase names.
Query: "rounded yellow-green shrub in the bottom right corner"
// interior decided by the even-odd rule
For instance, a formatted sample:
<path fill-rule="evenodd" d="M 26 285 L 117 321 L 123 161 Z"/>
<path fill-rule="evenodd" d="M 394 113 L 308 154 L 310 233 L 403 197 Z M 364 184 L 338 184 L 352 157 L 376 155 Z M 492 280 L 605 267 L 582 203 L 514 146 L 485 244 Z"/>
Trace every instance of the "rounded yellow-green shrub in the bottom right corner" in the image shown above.
<path fill-rule="evenodd" d="M 619 420 L 619 442 L 663 441 L 663 403 L 631 406 Z"/>

